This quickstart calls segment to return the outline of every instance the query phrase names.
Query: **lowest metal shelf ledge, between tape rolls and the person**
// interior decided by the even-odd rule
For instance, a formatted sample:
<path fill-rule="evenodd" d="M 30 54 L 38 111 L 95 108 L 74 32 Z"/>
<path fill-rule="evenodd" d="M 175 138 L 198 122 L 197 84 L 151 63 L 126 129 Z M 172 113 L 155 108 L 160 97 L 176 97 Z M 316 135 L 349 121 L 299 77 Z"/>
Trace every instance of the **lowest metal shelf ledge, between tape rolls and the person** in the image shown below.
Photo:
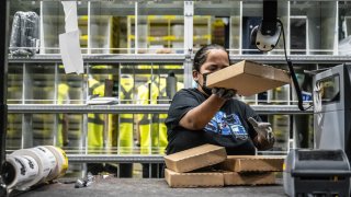
<path fill-rule="evenodd" d="M 163 163 L 160 154 L 67 154 L 70 163 Z"/>

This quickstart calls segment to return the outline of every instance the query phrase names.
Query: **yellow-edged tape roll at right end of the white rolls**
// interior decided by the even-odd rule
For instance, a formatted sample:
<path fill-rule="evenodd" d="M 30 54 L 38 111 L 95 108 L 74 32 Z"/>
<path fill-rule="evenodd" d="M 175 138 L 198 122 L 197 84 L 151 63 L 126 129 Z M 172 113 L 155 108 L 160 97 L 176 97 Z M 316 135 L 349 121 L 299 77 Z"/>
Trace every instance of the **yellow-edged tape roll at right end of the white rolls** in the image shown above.
<path fill-rule="evenodd" d="M 68 158 L 66 155 L 66 152 L 63 149 L 54 146 L 45 146 L 45 148 L 53 152 L 57 161 L 53 178 L 57 178 L 65 175 L 68 169 Z"/>

